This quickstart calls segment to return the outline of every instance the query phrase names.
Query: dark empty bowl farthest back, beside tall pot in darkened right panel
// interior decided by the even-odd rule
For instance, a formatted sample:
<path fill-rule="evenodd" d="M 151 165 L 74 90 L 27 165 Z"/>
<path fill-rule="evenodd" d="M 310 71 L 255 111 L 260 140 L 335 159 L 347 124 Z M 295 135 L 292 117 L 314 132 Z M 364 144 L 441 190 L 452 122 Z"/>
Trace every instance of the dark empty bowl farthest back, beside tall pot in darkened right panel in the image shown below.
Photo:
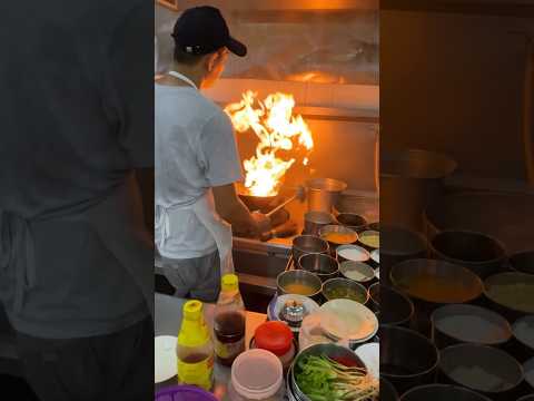
<path fill-rule="evenodd" d="M 449 229 L 436 234 L 431 251 L 441 260 L 467 267 L 483 280 L 503 270 L 506 258 L 501 242 L 468 231 Z"/>

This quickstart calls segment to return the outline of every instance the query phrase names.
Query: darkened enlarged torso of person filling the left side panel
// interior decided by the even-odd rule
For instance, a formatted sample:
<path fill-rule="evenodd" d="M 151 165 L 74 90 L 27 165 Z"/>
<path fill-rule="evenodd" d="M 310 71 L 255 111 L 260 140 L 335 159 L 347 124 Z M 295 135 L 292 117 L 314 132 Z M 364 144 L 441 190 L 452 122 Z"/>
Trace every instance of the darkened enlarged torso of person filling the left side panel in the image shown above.
<path fill-rule="evenodd" d="M 0 302 L 42 401 L 154 397 L 154 2 L 1 2 Z"/>

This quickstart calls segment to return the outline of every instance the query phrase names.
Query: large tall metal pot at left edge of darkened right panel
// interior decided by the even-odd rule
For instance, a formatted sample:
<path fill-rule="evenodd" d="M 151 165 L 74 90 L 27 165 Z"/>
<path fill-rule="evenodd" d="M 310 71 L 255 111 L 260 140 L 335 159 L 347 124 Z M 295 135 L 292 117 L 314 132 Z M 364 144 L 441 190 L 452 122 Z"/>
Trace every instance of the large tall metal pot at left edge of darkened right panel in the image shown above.
<path fill-rule="evenodd" d="M 423 212 L 444 194 L 443 179 L 456 162 L 433 151 L 383 151 L 380 157 L 380 219 L 416 232 L 424 231 Z"/>

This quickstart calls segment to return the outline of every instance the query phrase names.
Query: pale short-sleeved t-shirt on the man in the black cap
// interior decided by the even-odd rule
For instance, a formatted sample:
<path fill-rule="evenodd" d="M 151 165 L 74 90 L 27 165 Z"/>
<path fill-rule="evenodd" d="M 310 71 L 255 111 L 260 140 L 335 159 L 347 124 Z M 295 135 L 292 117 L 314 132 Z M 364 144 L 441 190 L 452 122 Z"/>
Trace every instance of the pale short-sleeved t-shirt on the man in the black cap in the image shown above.
<path fill-rule="evenodd" d="M 219 106 L 192 87 L 155 86 L 156 206 L 189 206 L 210 187 L 243 179 L 234 127 Z M 158 221 L 156 212 L 156 221 Z M 169 258 L 217 250 L 192 211 L 169 214 L 170 235 L 159 253 Z M 162 233 L 156 228 L 156 244 Z"/>

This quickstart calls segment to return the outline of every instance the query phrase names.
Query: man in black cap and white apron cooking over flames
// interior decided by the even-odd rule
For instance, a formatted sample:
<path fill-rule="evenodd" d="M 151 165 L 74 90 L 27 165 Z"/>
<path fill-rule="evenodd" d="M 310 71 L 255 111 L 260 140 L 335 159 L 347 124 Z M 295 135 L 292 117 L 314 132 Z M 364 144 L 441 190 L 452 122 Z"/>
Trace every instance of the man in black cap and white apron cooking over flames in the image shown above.
<path fill-rule="evenodd" d="M 266 219 L 237 196 L 243 170 L 231 123 L 199 91 L 247 48 L 212 7 L 186 10 L 171 36 L 174 63 L 155 88 L 155 239 L 175 295 L 212 302 L 220 275 L 234 271 L 233 229 L 259 236 Z"/>

